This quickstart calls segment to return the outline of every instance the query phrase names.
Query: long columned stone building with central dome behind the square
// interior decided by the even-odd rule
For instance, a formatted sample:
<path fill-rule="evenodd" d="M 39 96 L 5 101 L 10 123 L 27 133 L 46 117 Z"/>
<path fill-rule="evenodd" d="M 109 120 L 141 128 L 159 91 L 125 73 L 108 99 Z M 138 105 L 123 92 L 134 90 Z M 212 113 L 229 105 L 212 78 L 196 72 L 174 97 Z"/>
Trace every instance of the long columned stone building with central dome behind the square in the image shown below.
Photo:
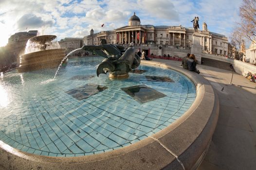
<path fill-rule="evenodd" d="M 180 26 L 153 26 L 141 25 L 140 18 L 134 15 L 128 20 L 128 26 L 111 31 L 94 33 L 91 29 L 90 35 L 84 36 L 85 45 L 99 45 L 100 39 L 106 39 L 111 44 L 128 45 L 130 42 L 142 50 L 151 51 L 154 48 L 163 48 L 168 51 L 189 52 L 193 42 L 194 28 Z M 227 55 L 228 39 L 225 35 L 208 31 L 207 24 L 202 24 L 201 50 L 205 53 Z M 160 49 L 161 49 L 160 48 Z"/>

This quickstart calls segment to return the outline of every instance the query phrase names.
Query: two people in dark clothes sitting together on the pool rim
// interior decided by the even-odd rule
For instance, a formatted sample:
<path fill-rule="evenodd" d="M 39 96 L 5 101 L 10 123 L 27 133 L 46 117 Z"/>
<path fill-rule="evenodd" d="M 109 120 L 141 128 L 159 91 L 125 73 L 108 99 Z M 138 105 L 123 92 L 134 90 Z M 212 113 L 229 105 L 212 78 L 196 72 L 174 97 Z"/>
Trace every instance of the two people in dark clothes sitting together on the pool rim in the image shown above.
<path fill-rule="evenodd" d="M 183 57 L 182 67 L 200 74 L 200 71 L 197 69 L 197 60 L 194 54 L 187 53 L 187 55 Z"/>

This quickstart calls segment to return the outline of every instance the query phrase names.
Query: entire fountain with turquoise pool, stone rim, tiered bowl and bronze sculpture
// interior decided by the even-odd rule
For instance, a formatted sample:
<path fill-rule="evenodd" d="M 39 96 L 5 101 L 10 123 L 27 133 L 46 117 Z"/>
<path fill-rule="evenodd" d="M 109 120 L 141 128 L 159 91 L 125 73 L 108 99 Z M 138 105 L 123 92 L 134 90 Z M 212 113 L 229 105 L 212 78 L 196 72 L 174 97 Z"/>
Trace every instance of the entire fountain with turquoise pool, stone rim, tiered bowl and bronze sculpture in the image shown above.
<path fill-rule="evenodd" d="M 48 68 L 55 61 L 57 66 L 62 57 L 48 52 L 61 50 L 50 49 L 53 39 L 32 39 L 34 48 L 21 56 L 19 71 L 46 62 Z M 106 59 L 73 58 L 51 82 L 54 70 L 46 67 L 39 74 L 0 75 L 0 167 L 196 169 L 218 120 L 219 101 L 210 83 L 183 68 L 140 61 L 134 47 L 124 51 L 103 42 L 73 52 L 79 50 Z M 96 77 L 95 66 L 97 76 L 131 73 L 109 80 Z"/>

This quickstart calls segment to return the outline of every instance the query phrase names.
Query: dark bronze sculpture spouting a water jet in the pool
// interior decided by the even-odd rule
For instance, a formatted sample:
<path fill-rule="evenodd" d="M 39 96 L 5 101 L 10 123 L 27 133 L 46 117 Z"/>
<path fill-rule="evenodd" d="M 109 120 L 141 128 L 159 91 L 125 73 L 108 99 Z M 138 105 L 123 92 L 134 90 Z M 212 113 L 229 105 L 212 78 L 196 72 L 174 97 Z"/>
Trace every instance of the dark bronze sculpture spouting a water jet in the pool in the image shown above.
<path fill-rule="evenodd" d="M 139 67 L 141 59 L 139 55 L 135 54 L 133 44 L 127 50 L 124 50 L 123 46 L 107 44 L 106 39 L 101 39 L 100 42 L 101 45 L 99 46 L 85 45 L 81 49 L 73 50 L 64 59 L 81 50 L 102 56 L 105 59 L 97 67 L 97 76 L 99 77 L 101 73 L 107 74 L 107 72 L 110 72 L 110 79 L 126 79 L 132 69 Z"/>

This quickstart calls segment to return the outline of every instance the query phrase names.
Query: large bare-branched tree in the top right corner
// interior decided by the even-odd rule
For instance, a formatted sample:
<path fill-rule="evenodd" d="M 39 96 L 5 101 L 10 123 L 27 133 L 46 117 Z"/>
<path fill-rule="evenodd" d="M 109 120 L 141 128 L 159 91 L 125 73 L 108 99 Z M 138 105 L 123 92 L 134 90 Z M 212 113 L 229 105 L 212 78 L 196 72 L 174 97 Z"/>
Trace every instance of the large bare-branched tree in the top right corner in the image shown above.
<path fill-rule="evenodd" d="M 240 31 L 244 37 L 254 41 L 256 36 L 256 0 L 243 0 L 239 8 Z"/>

